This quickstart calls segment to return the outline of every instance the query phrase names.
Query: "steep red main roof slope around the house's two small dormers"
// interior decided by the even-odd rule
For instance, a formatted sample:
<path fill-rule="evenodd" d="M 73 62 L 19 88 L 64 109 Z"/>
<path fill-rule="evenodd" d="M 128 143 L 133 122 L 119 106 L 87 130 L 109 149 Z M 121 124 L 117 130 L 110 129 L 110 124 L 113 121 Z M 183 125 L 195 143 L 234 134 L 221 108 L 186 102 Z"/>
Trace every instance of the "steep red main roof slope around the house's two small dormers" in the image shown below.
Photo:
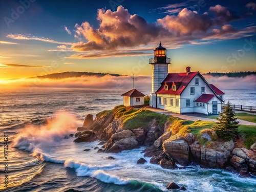
<path fill-rule="evenodd" d="M 161 87 L 157 90 L 156 93 L 181 95 L 183 90 L 187 87 L 188 83 L 197 75 L 197 73 L 198 71 L 190 72 L 188 75 L 186 73 L 168 73 L 167 77 L 163 80 Z M 172 87 L 169 87 L 169 90 L 164 90 L 164 82 L 166 82 L 167 84 L 173 83 L 173 82 L 179 82 L 180 85 L 177 86 L 176 91 L 173 91 Z"/>

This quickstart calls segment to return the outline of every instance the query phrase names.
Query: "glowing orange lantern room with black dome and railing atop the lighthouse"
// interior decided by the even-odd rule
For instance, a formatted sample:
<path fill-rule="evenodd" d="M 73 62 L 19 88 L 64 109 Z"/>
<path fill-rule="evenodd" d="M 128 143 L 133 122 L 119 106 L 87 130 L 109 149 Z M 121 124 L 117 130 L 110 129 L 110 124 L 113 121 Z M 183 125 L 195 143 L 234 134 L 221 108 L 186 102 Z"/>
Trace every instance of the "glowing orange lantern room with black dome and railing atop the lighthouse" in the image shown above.
<path fill-rule="evenodd" d="M 162 47 L 161 42 L 159 46 L 155 49 L 155 57 L 150 59 L 150 64 L 160 63 L 160 64 L 169 64 L 170 58 L 166 57 L 167 49 Z"/>

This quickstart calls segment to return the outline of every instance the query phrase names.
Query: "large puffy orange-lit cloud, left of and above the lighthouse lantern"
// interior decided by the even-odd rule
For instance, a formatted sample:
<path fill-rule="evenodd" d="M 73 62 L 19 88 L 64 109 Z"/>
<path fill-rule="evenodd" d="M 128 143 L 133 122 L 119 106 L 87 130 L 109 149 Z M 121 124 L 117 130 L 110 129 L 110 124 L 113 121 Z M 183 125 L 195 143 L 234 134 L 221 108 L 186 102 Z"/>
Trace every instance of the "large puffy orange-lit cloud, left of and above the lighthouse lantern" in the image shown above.
<path fill-rule="evenodd" d="M 88 42 L 79 42 L 76 51 L 115 50 L 117 48 L 147 45 L 159 36 L 169 36 L 167 30 L 157 24 L 149 24 L 139 15 L 131 15 L 122 6 L 117 11 L 98 10 L 99 29 L 88 23 L 76 24 L 76 33 Z"/>

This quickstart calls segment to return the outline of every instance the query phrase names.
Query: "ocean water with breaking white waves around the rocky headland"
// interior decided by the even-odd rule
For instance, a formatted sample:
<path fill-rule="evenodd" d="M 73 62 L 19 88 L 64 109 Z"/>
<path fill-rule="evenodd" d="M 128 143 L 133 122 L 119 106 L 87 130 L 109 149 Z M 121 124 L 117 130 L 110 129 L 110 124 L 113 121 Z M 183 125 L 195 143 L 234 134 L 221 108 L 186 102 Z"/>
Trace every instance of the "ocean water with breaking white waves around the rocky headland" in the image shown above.
<path fill-rule="evenodd" d="M 185 186 L 187 191 L 255 191 L 256 177 L 242 178 L 226 170 L 200 166 L 169 170 L 150 163 L 138 165 L 144 147 L 106 154 L 94 150 L 101 147 L 99 142 L 74 143 L 74 138 L 64 139 L 76 133 L 87 114 L 95 116 L 122 104 L 122 93 L 27 91 L 0 94 L 1 191 L 169 191 L 166 186 L 170 182 Z M 224 91 L 231 102 L 255 102 L 254 90 Z M 246 99 L 239 100 L 240 95 Z M 7 159 L 3 154 L 4 133 L 8 133 Z M 4 162 L 8 162 L 8 188 L 3 182 Z"/>

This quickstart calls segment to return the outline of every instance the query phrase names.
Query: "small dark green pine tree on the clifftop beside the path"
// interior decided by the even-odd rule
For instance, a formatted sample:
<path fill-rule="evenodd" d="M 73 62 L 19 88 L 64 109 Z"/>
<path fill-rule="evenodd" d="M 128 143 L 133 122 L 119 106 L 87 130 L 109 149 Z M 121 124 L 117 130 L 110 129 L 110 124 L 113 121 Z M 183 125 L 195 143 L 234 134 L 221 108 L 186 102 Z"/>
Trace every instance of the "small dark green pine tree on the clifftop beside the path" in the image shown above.
<path fill-rule="evenodd" d="M 238 118 L 234 117 L 231 103 L 228 101 L 227 106 L 224 107 L 223 113 L 217 118 L 217 125 L 213 127 L 218 137 L 225 141 L 231 140 L 238 136 Z"/>

